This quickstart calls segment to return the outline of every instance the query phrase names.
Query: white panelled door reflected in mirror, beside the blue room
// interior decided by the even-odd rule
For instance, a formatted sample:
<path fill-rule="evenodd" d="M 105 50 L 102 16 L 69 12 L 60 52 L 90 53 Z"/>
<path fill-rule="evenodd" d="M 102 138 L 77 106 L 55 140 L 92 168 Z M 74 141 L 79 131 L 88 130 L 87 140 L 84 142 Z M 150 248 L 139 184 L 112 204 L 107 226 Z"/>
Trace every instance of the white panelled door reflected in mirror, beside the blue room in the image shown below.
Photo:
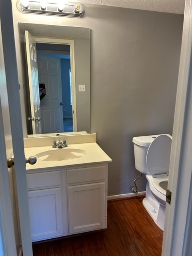
<path fill-rule="evenodd" d="M 38 54 L 38 76 L 46 88 L 46 96 L 40 101 L 42 133 L 63 132 L 60 58 Z"/>

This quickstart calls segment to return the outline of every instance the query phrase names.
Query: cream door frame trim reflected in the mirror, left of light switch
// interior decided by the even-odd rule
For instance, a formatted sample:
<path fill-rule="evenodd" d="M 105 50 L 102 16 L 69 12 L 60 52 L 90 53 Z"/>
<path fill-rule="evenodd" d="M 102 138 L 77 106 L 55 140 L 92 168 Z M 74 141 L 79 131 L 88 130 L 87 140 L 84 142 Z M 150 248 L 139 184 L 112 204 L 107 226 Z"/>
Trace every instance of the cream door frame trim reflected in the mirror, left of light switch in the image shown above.
<path fill-rule="evenodd" d="M 75 41 L 59 38 L 44 38 L 33 36 L 36 43 L 45 44 L 68 44 L 70 46 L 70 64 L 72 79 L 72 114 L 73 114 L 73 131 L 77 132 L 77 108 L 76 108 L 76 80 L 75 80 Z"/>

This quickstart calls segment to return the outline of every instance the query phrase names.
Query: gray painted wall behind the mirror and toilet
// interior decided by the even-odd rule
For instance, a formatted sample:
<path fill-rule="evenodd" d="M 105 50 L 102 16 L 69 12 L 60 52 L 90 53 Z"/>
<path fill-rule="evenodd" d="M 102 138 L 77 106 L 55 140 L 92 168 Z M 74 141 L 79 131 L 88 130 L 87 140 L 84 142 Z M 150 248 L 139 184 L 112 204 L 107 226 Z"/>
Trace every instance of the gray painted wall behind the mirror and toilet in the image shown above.
<path fill-rule="evenodd" d="M 132 138 L 172 134 L 183 15 L 84 6 L 82 19 L 17 13 L 15 22 L 91 29 L 91 132 L 113 160 L 108 195 L 126 194 L 139 174 Z M 145 185 L 143 177 L 138 190 Z"/>

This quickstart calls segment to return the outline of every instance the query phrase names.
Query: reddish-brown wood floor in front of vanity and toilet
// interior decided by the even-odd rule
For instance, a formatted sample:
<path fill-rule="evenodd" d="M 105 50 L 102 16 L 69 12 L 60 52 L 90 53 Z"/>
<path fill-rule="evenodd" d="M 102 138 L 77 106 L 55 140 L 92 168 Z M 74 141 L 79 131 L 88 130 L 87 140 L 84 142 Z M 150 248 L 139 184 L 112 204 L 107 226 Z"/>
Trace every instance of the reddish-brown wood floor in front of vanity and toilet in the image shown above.
<path fill-rule="evenodd" d="M 142 199 L 108 201 L 106 230 L 33 244 L 34 256 L 160 256 L 163 231 Z"/>

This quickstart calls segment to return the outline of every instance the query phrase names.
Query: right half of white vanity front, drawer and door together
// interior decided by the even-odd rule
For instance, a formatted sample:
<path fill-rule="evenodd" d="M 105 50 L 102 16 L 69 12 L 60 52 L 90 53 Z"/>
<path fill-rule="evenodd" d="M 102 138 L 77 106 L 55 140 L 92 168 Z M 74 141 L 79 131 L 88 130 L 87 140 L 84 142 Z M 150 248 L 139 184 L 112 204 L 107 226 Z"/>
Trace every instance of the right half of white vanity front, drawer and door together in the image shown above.
<path fill-rule="evenodd" d="M 106 228 L 107 166 L 67 170 L 70 234 Z"/>

